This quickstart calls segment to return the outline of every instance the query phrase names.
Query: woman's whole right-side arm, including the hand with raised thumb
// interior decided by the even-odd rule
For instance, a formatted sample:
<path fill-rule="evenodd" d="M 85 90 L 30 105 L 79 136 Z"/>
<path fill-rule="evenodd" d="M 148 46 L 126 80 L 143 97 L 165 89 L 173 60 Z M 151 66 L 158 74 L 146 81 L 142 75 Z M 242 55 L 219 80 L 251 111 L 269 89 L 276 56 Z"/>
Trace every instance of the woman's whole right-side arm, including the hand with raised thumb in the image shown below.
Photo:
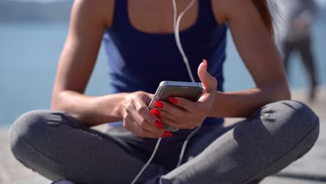
<path fill-rule="evenodd" d="M 184 98 L 169 99 L 158 106 L 162 121 L 173 128 L 192 129 L 207 117 L 246 117 L 259 107 L 290 99 L 284 68 L 272 36 L 251 1 L 216 0 L 213 8 L 219 23 L 226 22 L 256 88 L 235 92 L 216 91 L 216 79 L 203 61 L 198 75 L 205 93 L 198 102 Z M 181 107 L 181 108 L 180 108 Z"/>

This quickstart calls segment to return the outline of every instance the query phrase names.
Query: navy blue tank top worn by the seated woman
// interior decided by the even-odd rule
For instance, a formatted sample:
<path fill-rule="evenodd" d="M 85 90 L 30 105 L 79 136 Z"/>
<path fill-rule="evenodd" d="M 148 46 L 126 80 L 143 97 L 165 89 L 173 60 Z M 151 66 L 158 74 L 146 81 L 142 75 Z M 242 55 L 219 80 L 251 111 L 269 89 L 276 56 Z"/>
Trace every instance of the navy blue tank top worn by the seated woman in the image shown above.
<path fill-rule="evenodd" d="M 211 0 L 200 0 L 194 25 L 180 31 L 180 40 L 196 82 L 199 64 L 206 59 L 208 72 L 223 91 L 223 63 L 226 58 L 226 24 L 217 24 Z M 128 18 L 127 0 L 115 1 L 111 28 L 104 33 L 111 93 L 146 91 L 155 93 L 161 81 L 191 82 L 173 33 L 145 33 Z M 206 118 L 203 125 L 219 124 L 223 118 Z"/>

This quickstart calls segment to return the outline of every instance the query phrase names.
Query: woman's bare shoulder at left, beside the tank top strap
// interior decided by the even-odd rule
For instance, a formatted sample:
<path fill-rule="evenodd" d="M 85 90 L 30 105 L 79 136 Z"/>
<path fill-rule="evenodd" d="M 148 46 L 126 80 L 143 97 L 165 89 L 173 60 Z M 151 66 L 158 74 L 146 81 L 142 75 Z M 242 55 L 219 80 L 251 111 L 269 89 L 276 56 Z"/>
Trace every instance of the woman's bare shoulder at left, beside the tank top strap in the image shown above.
<path fill-rule="evenodd" d="M 74 14 L 86 21 L 101 22 L 111 26 L 114 0 L 75 0 L 72 7 L 72 15 Z"/>

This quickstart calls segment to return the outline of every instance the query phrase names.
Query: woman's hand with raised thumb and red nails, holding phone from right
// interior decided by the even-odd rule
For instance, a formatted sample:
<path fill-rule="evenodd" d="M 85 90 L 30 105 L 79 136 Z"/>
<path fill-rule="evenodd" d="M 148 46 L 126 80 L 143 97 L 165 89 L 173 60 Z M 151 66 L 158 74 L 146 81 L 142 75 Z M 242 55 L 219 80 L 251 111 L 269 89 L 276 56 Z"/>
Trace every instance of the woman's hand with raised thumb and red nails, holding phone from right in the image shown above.
<path fill-rule="evenodd" d="M 193 129 L 201 125 L 212 109 L 217 90 L 217 79 L 207 72 L 207 62 L 199 65 L 198 75 L 204 86 L 203 95 L 198 102 L 185 98 L 171 97 L 169 102 L 157 101 L 151 112 L 162 118 L 162 122 L 173 128 Z"/>

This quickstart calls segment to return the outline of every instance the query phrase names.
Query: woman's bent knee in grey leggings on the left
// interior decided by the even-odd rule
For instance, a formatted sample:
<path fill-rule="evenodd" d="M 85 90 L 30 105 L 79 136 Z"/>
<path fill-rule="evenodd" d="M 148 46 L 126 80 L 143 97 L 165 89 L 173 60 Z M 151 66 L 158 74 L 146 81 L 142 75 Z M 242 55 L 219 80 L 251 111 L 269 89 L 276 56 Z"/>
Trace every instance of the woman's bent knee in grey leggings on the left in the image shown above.
<path fill-rule="evenodd" d="M 11 125 L 10 148 L 15 158 L 20 161 L 24 160 L 28 152 L 26 148 L 35 148 L 38 142 L 44 141 L 48 132 L 49 112 L 49 110 L 26 112 Z"/>

